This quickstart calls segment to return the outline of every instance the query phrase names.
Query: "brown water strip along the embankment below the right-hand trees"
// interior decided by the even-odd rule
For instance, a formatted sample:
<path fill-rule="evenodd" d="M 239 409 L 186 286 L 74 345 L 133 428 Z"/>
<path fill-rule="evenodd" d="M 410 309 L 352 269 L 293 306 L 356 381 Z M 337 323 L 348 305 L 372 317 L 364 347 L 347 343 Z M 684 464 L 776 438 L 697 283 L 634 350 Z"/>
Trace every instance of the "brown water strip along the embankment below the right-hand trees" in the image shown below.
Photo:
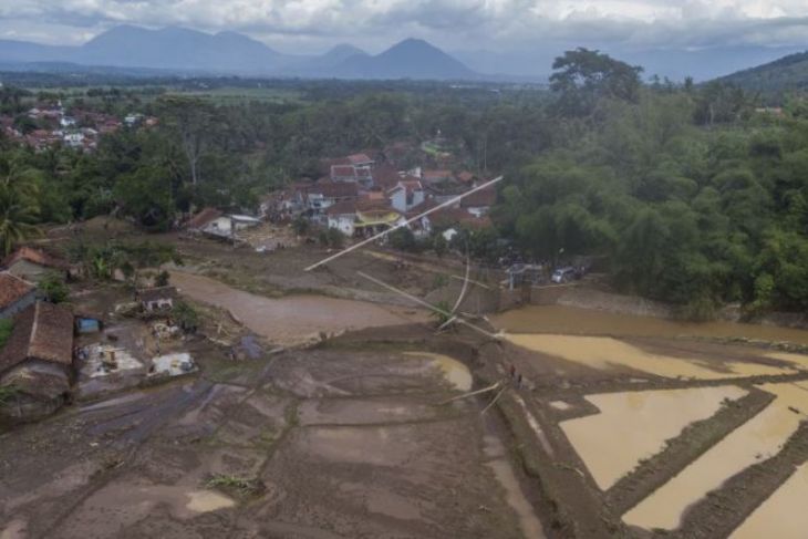
<path fill-rule="evenodd" d="M 494 315 L 491 322 L 498 329 L 511 333 L 747 338 L 808 345 L 808 331 L 806 330 L 734 322 L 686 323 L 564 305 L 522 307 Z"/>

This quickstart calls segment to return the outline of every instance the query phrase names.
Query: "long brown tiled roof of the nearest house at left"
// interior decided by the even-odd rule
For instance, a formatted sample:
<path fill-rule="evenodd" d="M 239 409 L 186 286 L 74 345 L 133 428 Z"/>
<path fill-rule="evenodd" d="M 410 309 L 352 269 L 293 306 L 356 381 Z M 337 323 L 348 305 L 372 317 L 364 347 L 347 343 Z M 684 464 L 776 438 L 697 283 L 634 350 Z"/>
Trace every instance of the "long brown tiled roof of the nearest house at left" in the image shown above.
<path fill-rule="evenodd" d="M 28 359 L 65 366 L 73 363 L 73 313 L 69 309 L 38 301 L 17 315 L 0 351 L 0 373 Z"/>

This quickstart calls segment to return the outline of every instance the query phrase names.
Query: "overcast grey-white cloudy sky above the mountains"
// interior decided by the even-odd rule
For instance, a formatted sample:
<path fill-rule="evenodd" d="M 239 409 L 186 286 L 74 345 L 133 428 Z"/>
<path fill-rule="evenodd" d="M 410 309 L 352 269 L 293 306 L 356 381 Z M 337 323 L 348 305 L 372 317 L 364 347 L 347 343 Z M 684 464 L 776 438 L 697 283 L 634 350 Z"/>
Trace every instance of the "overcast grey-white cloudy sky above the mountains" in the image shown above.
<path fill-rule="evenodd" d="M 0 38 L 80 44 L 121 23 L 236 30 L 286 52 L 417 37 L 448 50 L 808 48 L 808 0 L 0 0 Z"/>

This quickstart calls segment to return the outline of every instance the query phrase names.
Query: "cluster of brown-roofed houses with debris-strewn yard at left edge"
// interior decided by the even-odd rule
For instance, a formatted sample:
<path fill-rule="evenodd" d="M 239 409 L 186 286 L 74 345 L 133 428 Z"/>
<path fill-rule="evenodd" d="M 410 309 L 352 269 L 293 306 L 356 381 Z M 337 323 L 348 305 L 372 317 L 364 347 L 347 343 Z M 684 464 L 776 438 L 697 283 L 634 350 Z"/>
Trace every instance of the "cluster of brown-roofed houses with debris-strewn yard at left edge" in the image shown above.
<path fill-rule="evenodd" d="M 22 247 L 0 263 L 0 322 L 12 321 L 0 350 L 0 388 L 13 387 L 6 413 L 17 419 L 52 414 L 74 396 L 97 396 L 195 372 L 183 331 L 172 321 L 176 289 L 137 290 L 100 308 L 45 301 L 49 274 L 81 278 L 81 268 Z"/>

